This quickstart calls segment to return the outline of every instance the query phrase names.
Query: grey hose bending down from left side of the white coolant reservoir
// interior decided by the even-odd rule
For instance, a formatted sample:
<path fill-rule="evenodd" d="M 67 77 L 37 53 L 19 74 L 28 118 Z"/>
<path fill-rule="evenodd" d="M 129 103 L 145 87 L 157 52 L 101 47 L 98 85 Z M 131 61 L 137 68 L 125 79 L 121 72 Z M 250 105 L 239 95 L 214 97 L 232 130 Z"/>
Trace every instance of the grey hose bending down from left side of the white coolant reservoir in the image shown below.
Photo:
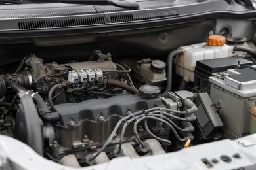
<path fill-rule="evenodd" d="M 181 55 L 183 52 L 182 50 L 174 50 L 173 52 L 170 52 L 167 58 L 167 67 L 168 67 L 168 72 L 167 72 L 167 87 L 165 92 L 162 93 L 162 95 L 165 95 L 165 93 L 171 91 L 171 82 L 172 82 L 172 74 L 173 74 L 173 58 L 177 55 Z"/>

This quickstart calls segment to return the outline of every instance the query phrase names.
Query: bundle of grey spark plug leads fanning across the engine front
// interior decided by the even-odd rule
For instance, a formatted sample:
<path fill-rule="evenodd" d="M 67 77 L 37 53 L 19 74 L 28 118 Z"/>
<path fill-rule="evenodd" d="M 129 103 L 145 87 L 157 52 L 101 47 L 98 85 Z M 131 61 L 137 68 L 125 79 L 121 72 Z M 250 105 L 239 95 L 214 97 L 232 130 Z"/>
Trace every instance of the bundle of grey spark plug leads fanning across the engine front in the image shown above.
<path fill-rule="evenodd" d="M 192 126 L 192 124 L 190 122 L 196 120 L 196 116 L 194 115 L 194 112 L 197 111 L 197 107 L 192 101 L 190 101 L 190 99 L 184 99 L 182 101 L 182 104 L 186 109 L 184 111 L 167 109 L 167 108 L 163 108 L 163 107 L 154 107 L 151 109 L 133 112 L 133 113 L 130 113 L 127 116 L 123 117 L 121 120 L 119 120 L 119 122 L 117 122 L 116 127 L 114 128 L 114 130 L 112 131 L 112 133 L 110 134 L 110 136 L 108 137 L 106 142 L 103 144 L 103 146 L 98 150 L 98 152 L 96 152 L 96 154 L 89 154 L 86 156 L 87 163 L 89 165 L 93 165 L 95 163 L 95 158 L 97 156 L 99 156 L 100 153 L 106 149 L 106 147 L 108 146 L 108 144 L 110 143 L 110 141 L 112 140 L 114 135 L 116 135 L 117 130 L 121 127 L 121 125 L 123 125 L 121 127 L 119 146 L 118 146 L 117 150 L 114 151 L 115 156 L 119 156 L 119 155 L 121 156 L 122 155 L 121 147 L 122 147 L 122 143 L 123 143 L 123 137 L 125 134 L 125 130 L 126 130 L 127 126 L 129 124 L 131 124 L 132 122 L 133 122 L 133 133 L 135 134 L 135 137 L 136 137 L 137 141 L 139 142 L 139 147 L 144 151 L 148 150 L 148 146 L 146 143 L 144 143 L 140 139 L 140 137 L 138 135 L 137 126 L 140 122 L 144 122 L 144 127 L 145 127 L 148 135 L 152 136 L 154 139 L 157 139 L 160 142 L 167 143 L 169 145 L 171 144 L 170 140 L 160 138 L 160 137 L 154 135 L 154 133 L 152 133 L 152 131 L 150 131 L 150 129 L 148 128 L 148 120 L 156 120 L 158 122 L 164 123 L 171 129 L 171 131 L 173 132 L 175 137 L 181 142 L 185 142 L 188 139 L 192 140 L 194 137 L 192 136 L 191 132 L 194 131 L 194 127 Z M 182 116 L 181 117 L 175 116 L 175 114 L 179 114 Z M 177 126 L 173 122 L 173 120 L 180 120 L 183 128 Z M 184 137 L 180 137 L 179 133 L 177 131 L 181 132 Z"/>

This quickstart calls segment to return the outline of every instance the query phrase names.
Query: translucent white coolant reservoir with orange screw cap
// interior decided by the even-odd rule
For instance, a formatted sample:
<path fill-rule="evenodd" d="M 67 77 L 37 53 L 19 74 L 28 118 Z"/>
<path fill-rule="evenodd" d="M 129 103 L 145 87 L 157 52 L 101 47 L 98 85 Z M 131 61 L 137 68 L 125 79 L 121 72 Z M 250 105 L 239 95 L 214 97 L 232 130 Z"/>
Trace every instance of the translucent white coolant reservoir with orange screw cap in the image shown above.
<path fill-rule="evenodd" d="M 232 56 L 233 46 L 225 44 L 226 39 L 221 35 L 211 35 L 207 43 L 181 46 L 181 56 L 175 58 L 176 73 L 186 82 L 194 82 L 196 61 L 203 59 L 226 58 Z"/>

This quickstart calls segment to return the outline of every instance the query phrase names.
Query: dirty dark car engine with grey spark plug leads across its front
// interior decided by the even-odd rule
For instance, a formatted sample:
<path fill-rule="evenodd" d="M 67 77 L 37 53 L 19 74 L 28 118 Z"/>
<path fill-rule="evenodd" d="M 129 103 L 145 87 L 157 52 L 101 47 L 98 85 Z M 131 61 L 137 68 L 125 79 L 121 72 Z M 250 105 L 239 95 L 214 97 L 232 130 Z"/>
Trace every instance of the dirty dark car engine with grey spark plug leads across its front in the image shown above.
<path fill-rule="evenodd" d="M 154 76 L 165 76 L 163 61 L 146 59 L 146 64 Z M 159 86 L 150 84 L 137 89 L 129 72 L 127 65 L 112 62 L 111 54 L 99 50 L 89 61 L 64 64 L 43 63 L 29 54 L 15 73 L 1 75 L 2 97 L 14 91 L 12 104 L 20 98 L 14 122 L 9 112 L 3 112 L 5 121 L 10 118 L 3 126 L 8 129 L 12 122 L 13 136 L 37 153 L 54 161 L 74 156 L 81 165 L 161 154 L 171 143 L 179 149 L 194 139 L 194 94 L 161 93 Z M 165 80 L 166 76 L 152 84 Z"/>

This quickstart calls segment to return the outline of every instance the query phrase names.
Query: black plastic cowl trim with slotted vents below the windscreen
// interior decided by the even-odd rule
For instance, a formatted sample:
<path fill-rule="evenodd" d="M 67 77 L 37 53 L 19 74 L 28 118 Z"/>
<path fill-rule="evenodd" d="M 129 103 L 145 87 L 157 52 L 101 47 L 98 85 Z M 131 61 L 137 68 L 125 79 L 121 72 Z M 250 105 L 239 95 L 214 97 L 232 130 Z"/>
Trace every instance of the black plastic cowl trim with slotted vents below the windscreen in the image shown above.
<path fill-rule="evenodd" d="M 191 22 L 192 20 L 206 20 L 211 18 L 255 18 L 256 17 L 256 11 L 247 11 L 247 12 L 232 12 L 227 10 L 209 10 L 212 7 L 208 7 L 210 5 L 217 5 L 219 9 L 221 9 L 221 5 L 226 5 L 224 2 L 220 1 L 213 1 L 212 4 L 207 3 L 200 3 L 196 5 L 185 5 L 181 7 L 167 7 L 163 9 L 150 9 L 150 10 L 135 10 L 135 11 L 125 11 L 125 12 L 108 12 L 104 14 L 91 14 L 86 16 L 72 16 L 72 18 L 88 18 L 88 17 L 104 17 L 105 18 L 105 24 L 89 24 L 89 25 L 73 25 L 72 27 L 54 27 L 54 29 L 50 28 L 42 28 L 37 29 L 35 27 L 34 29 L 22 29 L 21 31 L 12 28 L 7 30 L 10 25 L 13 24 L 13 22 L 21 22 L 23 19 L 18 20 L 0 20 L 0 22 L 4 22 L 5 24 L 1 24 L 2 30 L 0 28 L 0 37 L 28 37 L 28 36 L 51 36 L 51 34 L 54 33 L 54 35 L 62 35 L 62 34 L 79 34 L 79 33 L 110 33 L 115 31 L 128 31 L 128 30 L 135 30 L 135 29 L 148 29 L 149 27 L 163 27 L 167 25 L 173 25 L 173 24 L 181 24 L 182 22 Z M 208 7 L 208 8 L 203 8 Z M 217 8 L 217 9 L 218 9 Z M 224 7 L 226 8 L 226 7 Z M 200 12 L 202 9 L 203 12 Z M 165 10 L 172 10 L 172 14 L 166 14 L 165 16 Z M 177 12 L 174 12 L 176 11 Z M 147 14 L 146 12 L 150 12 Z M 143 13 L 144 12 L 144 13 Z M 160 12 L 160 13 L 158 13 Z M 161 13 L 163 12 L 163 13 Z M 179 16 L 178 16 L 179 12 Z M 150 16 L 150 14 L 153 14 L 154 16 Z M 123 15 L 123 16 L 122 16 Z M 135 16 L 139 16 L 136 18 Z M 65 16 L 67 19 L 70 18 L 70 16 Z M 61 17 L 61 18 L 65 18 Z M 49 20 L 49 18 L 26 18 L 26 20 L 23 21 L 30 21 L 35 22 L 35 20 Z M 71 19 L 71 18 L 70 18 Z M 56 20 L 58 20 L 56 18 Z M 17 24 L 18 25 L 18 24 Z M 3 29 L 5 27 L 5 29 Z"/>

